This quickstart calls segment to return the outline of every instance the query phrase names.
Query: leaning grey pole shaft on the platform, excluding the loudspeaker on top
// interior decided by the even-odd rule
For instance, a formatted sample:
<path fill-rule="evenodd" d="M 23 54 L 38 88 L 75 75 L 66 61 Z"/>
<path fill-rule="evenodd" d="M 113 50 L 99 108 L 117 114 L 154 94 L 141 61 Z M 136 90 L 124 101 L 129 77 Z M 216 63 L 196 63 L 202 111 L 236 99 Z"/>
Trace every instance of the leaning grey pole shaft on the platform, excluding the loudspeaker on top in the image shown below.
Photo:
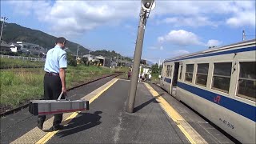
<path fill-rule="evenodd" d="M 134 52 L 134 65 L 133 65 L 133 71 L 132 71 L 131 80 L 130 80 L 130 93 L 129 93 L 128 103 L 126 107 L 126 111 L 128 113 L 134 112 L 134 101 L 135 101 L 137 84 L 138 84 L 138 73 L 139 73 L 138 70 L 139 70 L 140 61 L 142 57 L 142 45 L 143 45 L 145 26 L 146 26 L 146 11 L 141 9 L 139 26 L 138 26 L 138 35 L 137 35 L 137 41 L 135 46 L 135 52 Z"/>

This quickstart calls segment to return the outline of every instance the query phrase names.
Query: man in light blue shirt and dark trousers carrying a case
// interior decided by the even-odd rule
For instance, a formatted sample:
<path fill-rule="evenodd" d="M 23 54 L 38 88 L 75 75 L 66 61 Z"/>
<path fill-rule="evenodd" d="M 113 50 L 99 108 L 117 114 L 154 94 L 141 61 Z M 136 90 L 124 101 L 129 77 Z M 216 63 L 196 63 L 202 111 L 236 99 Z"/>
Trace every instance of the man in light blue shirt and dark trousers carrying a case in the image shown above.
<path fill-rule="evenodd" d="M 66 95 L 66 51 L 63 50 L 66 45 L 65 38 L 57 38 L 54 48 L 50 49 L 46 54 L 46 63 L 44 70 L 44 99 L 58 99 L 62 94 L 62 98 Z M 42 130 L 43 122 L 46 120 L 46 115 L 38 116 L 38 128 Z M 61 130 L 62 114 L 54 114 L 54 123 L 52 130 Z"/>

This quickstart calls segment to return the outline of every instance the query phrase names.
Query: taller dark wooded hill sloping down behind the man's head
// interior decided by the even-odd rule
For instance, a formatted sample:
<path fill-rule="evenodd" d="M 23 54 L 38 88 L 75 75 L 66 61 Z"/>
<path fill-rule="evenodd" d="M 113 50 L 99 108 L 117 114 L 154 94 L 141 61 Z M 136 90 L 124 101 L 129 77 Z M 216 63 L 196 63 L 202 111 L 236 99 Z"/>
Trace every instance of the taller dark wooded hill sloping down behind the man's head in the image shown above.
<path fill-rule="evenodd" d="M 44 48 L 54 47 L 56 37 L 46 34 L 40 30 L 32 30 L 23 26 L 19 26 L 15 23 L 5 22 L 6 27 L 2 32 L 2 40 L 6 42 L 29 42 L 38 44 Z M 2 22 L 1 22 L 2 26 Z M 71 53 L 76 54 L 78 43 L 67 42 L 66 47 L 68 47 Z M 80 46 L 79 54 L 88 54 L 88 49 Z"/>

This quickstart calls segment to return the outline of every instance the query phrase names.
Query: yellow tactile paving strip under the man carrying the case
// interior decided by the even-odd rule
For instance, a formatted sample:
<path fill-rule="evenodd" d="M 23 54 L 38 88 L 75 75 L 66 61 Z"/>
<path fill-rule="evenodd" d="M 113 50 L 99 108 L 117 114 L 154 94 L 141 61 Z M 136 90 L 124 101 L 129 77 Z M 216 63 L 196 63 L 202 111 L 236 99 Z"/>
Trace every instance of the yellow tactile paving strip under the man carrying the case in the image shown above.
<path fill-rule="evenodd" d="M 97 90 L 94 90 L 90 94 L 87 94 L 85 97 L 81 98 L 83 100 L 89 101 L 90 103 L 93 102 L 96 98 L 98 98 L 104 91 L 110 88 L 110 86 L 114 85 L 118 79 L 114 78 L 110 82 L 107 82 L 105 85 L 99 87 Z M 74 113 L 66 113 L 63 114 L 63 119 L 65 121 L 62 122 L 62 125 L 67 125 L 73 118 L 75 118 L 79 112 Z M 38 127 L 28 131 L 26 134 L 22 135 L 22 137 L 14 140 L 11 143 L 46 143 L 54 136 L 54 134 L 58 133 L 58 131 L 47 132 L 50 129 L 54 121 L 54 117 L 48 119 L 44 122 L 43 129 L 40 130 Z"/>

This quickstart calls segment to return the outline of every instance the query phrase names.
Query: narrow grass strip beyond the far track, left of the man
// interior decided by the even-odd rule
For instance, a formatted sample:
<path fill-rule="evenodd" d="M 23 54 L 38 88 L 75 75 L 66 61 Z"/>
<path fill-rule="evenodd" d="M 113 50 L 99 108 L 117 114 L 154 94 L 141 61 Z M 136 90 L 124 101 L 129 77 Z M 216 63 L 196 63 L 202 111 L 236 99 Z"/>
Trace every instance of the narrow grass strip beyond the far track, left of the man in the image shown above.
<path fill-rule="evenodd" d="M 22 59 L 0 58 L 1 66 L 44 66 L 44 62 L 32 62 Z"/>

